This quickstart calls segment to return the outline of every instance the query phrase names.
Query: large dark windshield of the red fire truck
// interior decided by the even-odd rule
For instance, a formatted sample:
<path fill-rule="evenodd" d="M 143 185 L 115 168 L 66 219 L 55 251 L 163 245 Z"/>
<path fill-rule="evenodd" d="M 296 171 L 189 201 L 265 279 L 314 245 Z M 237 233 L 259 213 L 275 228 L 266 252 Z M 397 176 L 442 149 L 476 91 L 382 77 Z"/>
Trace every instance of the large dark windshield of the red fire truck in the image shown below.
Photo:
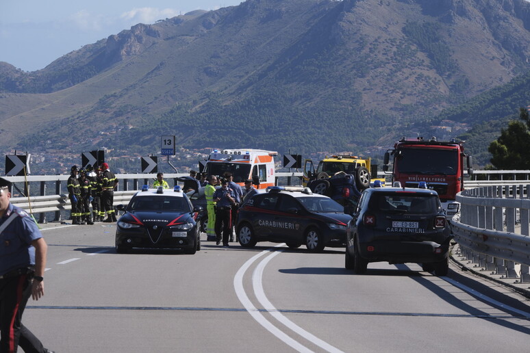
<path fill-rule="evenodd" d="M 397 157 L 397 169 L 400 173 L 408 174 L 455 175 L 458 170 L 458 151 L 403 148 Z"/>

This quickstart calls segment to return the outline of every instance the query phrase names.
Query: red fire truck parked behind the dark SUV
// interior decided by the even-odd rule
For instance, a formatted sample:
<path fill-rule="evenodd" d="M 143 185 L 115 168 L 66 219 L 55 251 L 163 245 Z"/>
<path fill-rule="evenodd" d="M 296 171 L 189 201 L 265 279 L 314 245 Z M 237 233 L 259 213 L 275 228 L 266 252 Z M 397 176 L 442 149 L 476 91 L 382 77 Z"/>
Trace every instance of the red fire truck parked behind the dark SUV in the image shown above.
<path fill-rule="evenodd" d="M 463 141 L 403 137 L 394 144 L 394 149 L 385 153 L 384 172 L 390 169 L 390 157 L 392 183 L 399 181 L 403 187 L 418 187 L 420 181 L 425 181 L 429 189 L 438 192 L 448 217 L 459 211 L 456 194 L 464 190 L 464 177 L 473 173 L 472 157 L 464 153 Z"/>

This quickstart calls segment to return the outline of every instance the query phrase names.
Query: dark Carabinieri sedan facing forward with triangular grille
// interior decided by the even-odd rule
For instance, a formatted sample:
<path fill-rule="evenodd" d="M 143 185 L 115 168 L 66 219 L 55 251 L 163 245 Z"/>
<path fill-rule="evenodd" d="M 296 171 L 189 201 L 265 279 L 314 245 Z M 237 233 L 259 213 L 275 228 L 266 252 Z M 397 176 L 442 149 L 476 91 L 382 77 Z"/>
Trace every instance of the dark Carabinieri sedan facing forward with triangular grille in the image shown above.
<path fill-rule="evenodd" d="M 125 211 L 116 227 L 116 252 L 155 248 L 194 254 L 201 249 L 199 213 L 203 209 L 193 207 L 178 185 L 173 190 L 144 185 L 127 207 L 116 208 Z"/>

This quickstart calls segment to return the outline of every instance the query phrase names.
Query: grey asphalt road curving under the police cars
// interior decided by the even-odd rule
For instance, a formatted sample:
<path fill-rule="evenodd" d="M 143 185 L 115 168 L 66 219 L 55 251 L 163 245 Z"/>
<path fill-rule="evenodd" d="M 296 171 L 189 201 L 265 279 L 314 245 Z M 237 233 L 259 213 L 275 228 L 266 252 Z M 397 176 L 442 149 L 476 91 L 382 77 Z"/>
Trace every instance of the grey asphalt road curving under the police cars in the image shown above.
<path fill-rule="evenodd" d="M 451 266 L 258 243 L 116 254 L 114 224 L 45 224 L 45 297 L 23 322 L 55 352 L 527 352 L 529 302 Z M 203 235 L 203 239 L 205 236 Z"/>

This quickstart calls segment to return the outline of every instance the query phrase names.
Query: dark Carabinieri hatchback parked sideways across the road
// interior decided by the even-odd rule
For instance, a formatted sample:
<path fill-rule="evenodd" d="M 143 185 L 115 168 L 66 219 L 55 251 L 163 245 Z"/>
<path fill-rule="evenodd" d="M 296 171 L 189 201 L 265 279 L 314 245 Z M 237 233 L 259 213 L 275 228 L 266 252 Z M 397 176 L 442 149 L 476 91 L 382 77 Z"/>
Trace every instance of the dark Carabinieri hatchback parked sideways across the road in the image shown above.
<path fill-rule="evenodd" d="M 302 244 L 319 252 L 325 246 L 345 244 L 346 224 L 351 216 L 344 207 L 308 187 L 268 187 L 256 194 L 238 211 L 236 231 L 245 248 L 257 241 L 286 243 L 290 248 Z"/>

